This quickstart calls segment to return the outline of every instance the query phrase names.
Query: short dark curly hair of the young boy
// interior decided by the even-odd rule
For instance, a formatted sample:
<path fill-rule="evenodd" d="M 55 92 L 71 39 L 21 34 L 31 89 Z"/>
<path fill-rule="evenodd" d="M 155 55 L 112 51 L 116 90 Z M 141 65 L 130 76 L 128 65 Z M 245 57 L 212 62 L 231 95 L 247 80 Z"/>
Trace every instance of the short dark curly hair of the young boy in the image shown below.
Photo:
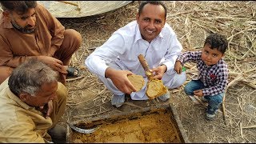
<path fill-rule="evenodd" d="M 204 46 L 206 46 L 206 44 L 210 45 L 210 49 L 217 49 L 222 52 L 222 54 L 225 53 L 228 46 L 226 37 L 222 34 L 210 34 L 206 38 Z"/>

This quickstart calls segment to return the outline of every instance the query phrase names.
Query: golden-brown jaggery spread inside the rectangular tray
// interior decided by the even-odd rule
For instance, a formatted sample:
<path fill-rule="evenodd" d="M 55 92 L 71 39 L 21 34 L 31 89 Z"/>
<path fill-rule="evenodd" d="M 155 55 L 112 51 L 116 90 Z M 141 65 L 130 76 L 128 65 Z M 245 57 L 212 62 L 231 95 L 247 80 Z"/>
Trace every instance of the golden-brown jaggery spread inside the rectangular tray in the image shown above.
<path fill-rule="evenodd" d="M 92 134 L 73 131 L 71 137 L 73 142 L 181 142 L 170 112 L 164 111 L 103 122 Z"/>

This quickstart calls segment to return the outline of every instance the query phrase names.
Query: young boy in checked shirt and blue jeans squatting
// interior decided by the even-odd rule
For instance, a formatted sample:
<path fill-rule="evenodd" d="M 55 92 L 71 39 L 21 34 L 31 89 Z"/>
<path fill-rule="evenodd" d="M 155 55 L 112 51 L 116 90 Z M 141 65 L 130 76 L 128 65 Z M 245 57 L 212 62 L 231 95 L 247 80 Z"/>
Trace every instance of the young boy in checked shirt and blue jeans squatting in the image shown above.
<path fill-rule="evenodd" d="M 187 51 L 177 58 L 174 70 L 182 73 L 182 65 L 186 62 L 196 62 L 198 78 L 188 82 L 185 93 L 196 101 L 194 95 L 202 97 L 208 102 L 206 119 L 216 118 L 218 106 L 222 103 L 223 94 L 227 86 L 228 69 L 222 59 L 228 46 L 226 38 L 220 34 L 210 34 L 200 51 Z"/>

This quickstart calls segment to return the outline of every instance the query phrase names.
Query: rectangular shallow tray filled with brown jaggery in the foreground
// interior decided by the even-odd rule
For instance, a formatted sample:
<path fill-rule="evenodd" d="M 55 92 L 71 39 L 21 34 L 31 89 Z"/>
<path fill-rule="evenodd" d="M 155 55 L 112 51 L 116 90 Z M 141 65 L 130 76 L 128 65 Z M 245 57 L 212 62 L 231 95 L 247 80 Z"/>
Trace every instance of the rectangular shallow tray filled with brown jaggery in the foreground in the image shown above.
<path fill-rule="evenodd" d="M 86 121 L 72 122 L 74 126 L 90 129 L 81 134 L 67 126 L 67 142 L 168 142 L 190 143 L 178 113 L 172 105 L 146 107 L 118 114 L 102 115 Z"/>

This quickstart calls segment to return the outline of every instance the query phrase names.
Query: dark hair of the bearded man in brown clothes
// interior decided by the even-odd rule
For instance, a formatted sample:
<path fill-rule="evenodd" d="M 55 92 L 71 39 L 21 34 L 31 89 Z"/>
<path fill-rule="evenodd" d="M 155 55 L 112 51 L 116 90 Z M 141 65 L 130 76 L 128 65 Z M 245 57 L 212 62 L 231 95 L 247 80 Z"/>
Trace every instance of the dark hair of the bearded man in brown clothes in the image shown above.
<path fill-rule="evenodd" d="M 25 14 L 28 9 L 37 6 L 36 1 L 1 1 L 2 10 L 14 11 L 18 14 Z"/>

